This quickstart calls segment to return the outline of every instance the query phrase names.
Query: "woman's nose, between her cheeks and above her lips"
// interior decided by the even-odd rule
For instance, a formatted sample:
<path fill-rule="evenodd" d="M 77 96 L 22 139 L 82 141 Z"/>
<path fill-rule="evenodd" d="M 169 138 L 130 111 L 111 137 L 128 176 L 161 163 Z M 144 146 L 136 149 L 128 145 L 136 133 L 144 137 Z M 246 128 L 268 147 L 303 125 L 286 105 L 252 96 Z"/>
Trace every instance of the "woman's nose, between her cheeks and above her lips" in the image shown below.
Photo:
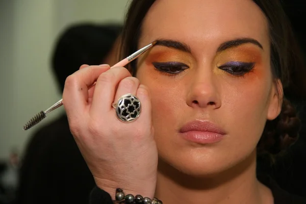
<path fill-rule="evenodd" d="M 190 84 L 187 105 L 193 108 L 220 108 L 221 98 L 216 83 L 213 80 L 213 73 L 197 74 Z"/>

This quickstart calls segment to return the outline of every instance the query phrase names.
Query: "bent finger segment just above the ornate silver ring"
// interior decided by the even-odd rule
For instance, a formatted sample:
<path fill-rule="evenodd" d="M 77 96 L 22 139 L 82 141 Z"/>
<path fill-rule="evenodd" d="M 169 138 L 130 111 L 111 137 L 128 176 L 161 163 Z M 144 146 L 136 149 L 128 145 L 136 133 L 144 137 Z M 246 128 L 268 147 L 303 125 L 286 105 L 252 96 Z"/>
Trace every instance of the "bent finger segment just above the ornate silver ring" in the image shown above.
<path fill-rule="evenodd" d="M 121 80 L 119 82 L 114 101 L 117 102 L 122 95 L 127 93 L 136 95 L 139 84 L 139 80 L 135 77 L 127 77 Z"/>

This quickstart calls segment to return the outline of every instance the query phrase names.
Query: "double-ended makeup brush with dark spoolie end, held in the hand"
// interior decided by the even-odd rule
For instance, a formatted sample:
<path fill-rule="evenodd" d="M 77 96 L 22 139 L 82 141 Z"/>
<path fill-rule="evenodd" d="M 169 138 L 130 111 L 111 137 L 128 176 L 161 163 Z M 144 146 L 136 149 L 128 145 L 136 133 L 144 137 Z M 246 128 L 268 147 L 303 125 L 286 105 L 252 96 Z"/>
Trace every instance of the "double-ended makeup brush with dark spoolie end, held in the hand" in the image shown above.
<path fill-rule="evenodd" d="M 141 49 L 137 50 L 135 53 L 133 53 L 132 55 L 130 55 L 129 57 L 121 60 L 120 62 L 118 62 L 117 64 L 115 64 L 112 67 L 123 67 L 127 64 L 129 64 L 130 62 L 132 62 L 133 60 L 135 60 L 136 58 L 138 58 L 141 54 L 143 54 L 147 49 L 149 49 L 150 47 L 154 46 L 156 44 L 156 41 L 142 47 Z M 34 125 L 36 125 L 37 123 L 39 123 L 41 120 L 43 120 L 46 117 L 46 114 L 61 107 L 63 105 L 63 99 L 60 99 L 59 101 L 57 101 L 57 103 L 55 103 L 53 106 L 51 106 L 50 108 L 48 108 L 45 111 L 40 111 L 38 114 L 36 114 L 33 118 L 31 118 L 31 120 L 29 120 L 29 122 L 27 122 L 24 126 L 23 126 L 23 130 L 29 130 L 31 127 L 33 127 Z"/>

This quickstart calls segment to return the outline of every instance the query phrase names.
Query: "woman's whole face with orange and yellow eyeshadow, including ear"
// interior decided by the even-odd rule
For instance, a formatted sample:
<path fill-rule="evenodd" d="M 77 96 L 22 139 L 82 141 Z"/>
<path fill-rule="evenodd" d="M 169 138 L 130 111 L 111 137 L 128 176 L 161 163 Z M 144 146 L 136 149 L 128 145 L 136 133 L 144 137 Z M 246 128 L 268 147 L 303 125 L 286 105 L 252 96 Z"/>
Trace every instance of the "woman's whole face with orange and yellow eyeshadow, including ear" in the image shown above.
<path fill-rule="evenodd" d="M 280 111 L 270 67 L 268 25 L 250 0 L 158 0 L 139 47 L 150 89 L 160 159 L 192 175 L 254 156 L 267 119 Z M 189 124 L 189 125 L 188 125 Z"/>

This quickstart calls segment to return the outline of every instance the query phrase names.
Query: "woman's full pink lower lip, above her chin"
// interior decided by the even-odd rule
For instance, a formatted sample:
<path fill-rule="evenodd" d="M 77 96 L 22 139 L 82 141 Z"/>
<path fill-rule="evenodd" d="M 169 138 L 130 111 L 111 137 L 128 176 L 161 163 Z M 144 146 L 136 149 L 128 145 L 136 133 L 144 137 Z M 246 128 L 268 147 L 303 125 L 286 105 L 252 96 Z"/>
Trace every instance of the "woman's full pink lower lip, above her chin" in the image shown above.
<path fill-rule="evenodd" d="M 224 135 L 220 133 L 202 131 L 188 131 L 181 134 L 186 140 L 200 144 L 210 144 L 219 142 L 224 137 Z"/>

